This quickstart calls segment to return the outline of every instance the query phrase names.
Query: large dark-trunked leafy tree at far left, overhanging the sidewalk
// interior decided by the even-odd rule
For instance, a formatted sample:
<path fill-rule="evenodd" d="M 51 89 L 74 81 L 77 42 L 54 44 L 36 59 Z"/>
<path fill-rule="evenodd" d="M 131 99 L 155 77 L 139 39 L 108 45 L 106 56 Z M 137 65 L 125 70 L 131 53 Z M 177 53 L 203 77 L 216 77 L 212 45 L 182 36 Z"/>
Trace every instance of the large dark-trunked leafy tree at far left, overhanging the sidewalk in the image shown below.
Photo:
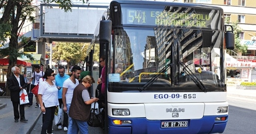
<path fill-rule="evenodd" d="M 82 0 L 85 2 L 84 0 Z M 35 8 L 32 6 L 33 0 L 0 0 L 0 9 L 2 11 L 2 18 L 0 18 L 0 42 L 5 45 L 5 49 L 0 50 L 0 54 L 9 56 L 9 66 L 7 77 L 11 75 L 11 67 L 16 64 L 17 57 L 26 55 L 33 59 L 31 55 L 19 51 L 21 46 L 18 45 L 18 35 L 24 25 L 25 21 L 34 22 Z M 71 11 L 71 0 L 44 0 L 45 4 L 55 2 L 60 5 L 60 8 L 65 12 Z M 88 0 L 86 0 L 88 2 Z M 10 39 L 8 41 L 7 39 Z M 22 39 L 22 38 L 21 38 Z M 23 38 L 24 39 L 24 38 Z M 8 42 L 7 44 L 4 44 Z M 6 95 L 10 95 L 6 90 Z"/>

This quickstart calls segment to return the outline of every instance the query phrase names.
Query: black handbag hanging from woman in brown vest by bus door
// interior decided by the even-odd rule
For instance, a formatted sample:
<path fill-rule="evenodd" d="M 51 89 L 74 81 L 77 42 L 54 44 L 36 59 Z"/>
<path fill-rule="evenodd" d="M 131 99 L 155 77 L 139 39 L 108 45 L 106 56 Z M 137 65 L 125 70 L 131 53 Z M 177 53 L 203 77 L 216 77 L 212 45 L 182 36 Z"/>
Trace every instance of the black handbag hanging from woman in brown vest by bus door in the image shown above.
<path fill-rule="evenodd" d="M 94 102 L 94 108 L 91 109 L 90 118 L 87 123 L 89 126 L 92 127 L 100 127 L 102 126 L 102 113 L 95 113 L 95 110 L 97 110 L 97 108 L 95 108 L 95 105 L 96 102 Z"/>

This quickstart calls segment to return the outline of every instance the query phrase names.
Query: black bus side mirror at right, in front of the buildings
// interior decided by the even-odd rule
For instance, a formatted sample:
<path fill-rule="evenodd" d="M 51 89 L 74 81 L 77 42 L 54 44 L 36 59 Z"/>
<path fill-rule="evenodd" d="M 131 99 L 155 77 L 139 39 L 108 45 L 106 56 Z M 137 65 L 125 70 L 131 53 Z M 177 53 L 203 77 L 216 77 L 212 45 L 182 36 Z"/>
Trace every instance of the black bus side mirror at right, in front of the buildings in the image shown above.
<path fill-rule="evenodd" d="M 227 30 L 228 27 L 230 27 L 229 29 L 231 30 Z M 233 50 L 235 48 L 235 36 L 231 25 L 225 25 L 225 43 L 226 49 Z"/>

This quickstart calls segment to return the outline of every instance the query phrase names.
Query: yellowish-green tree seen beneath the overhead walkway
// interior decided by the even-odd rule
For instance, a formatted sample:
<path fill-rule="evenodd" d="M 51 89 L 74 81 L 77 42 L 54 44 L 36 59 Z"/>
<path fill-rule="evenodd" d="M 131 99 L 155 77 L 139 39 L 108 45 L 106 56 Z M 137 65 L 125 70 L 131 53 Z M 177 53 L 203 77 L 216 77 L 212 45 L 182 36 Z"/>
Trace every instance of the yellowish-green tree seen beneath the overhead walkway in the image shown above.
<path fill-rule="evenodd" d="M 69 65 L 76 65 L 86 57 L 86 49 L 82 49 L 83 45 L 84 43 L 77 42 L 57 42 L 52 49 L 52 59 L 66 61 L 69 69 Z"/>

